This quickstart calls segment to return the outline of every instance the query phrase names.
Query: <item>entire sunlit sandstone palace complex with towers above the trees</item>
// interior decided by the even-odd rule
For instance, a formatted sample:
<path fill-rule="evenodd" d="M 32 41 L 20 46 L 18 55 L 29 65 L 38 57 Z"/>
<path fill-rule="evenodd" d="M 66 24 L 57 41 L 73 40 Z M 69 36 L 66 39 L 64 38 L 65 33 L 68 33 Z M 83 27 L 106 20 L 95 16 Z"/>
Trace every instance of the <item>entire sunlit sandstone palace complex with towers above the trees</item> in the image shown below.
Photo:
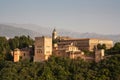
<path fill-rule="evenodd" d="M 51 55 L 69 57 L 70 59 L 81 58 L 85 61 L 99 62 L 105 58 L 104 49 L 97 49 L 98 44 L 105 44 L 106 49 L 113 47 L 112 40 L 84 38 L 75 39 L 66 36 L 58 36 L 54 29 L 52 37 L 35 37 L 33 48 L 15 49 L 12 51 L 14 62 L 32 59 L 33 62 L 48 60 Z M 91 51 L 94 54 L 86 55 L 84 51 Z"/>

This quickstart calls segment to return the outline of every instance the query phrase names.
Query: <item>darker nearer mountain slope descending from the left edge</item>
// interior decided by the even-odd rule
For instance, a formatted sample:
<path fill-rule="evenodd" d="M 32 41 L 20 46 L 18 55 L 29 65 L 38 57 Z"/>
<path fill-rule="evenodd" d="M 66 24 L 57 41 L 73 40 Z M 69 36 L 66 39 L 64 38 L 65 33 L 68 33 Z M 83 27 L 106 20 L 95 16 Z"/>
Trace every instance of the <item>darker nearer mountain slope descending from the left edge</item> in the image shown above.
<path fill-rule="evenodd" d="M 21 36 L 21 35 L 29 35 L 33 38 L 41 34 L 34 32 L 32 30 L 27 30 L 23 28 L 13 27 L 10 25 L 0 24 L 0 36 L 14 37 L 14 36 Z"/>

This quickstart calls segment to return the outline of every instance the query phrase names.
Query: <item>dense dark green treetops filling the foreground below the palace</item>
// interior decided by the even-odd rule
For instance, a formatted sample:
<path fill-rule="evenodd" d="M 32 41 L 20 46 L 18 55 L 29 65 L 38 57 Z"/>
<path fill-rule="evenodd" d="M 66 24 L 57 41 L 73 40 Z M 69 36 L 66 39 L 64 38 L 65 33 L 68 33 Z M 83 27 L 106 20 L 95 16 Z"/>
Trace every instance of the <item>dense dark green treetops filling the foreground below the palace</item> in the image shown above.
<path fill-rule="evenodd" d="M 120 80 L 120 55 L 99 63 L 54 56 L 42 63 L 0 61 L 0 80 Z"/>

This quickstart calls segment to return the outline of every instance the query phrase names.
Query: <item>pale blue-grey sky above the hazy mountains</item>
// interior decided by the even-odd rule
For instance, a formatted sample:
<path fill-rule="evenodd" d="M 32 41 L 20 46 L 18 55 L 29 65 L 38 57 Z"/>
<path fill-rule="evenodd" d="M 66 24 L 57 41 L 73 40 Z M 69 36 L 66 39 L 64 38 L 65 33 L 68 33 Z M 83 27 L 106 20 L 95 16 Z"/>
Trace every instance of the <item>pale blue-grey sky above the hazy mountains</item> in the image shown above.
<path fill-rule="evenodd" d="M 120 0 L 0 0 L 0 23 L 120 34 Z"/>

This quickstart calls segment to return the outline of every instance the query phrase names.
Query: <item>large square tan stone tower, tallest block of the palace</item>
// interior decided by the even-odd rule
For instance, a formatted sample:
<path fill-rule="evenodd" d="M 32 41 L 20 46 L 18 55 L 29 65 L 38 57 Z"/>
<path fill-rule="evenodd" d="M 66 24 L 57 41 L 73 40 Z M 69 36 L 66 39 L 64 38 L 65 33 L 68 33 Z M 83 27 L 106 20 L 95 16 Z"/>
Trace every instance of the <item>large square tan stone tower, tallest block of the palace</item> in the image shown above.
<path fill-rule="evenodd" d="M 52 38 L 50 37 L 35 37 L 35 54 L 34 62 L 48 60 L 52 55 Z"/>

